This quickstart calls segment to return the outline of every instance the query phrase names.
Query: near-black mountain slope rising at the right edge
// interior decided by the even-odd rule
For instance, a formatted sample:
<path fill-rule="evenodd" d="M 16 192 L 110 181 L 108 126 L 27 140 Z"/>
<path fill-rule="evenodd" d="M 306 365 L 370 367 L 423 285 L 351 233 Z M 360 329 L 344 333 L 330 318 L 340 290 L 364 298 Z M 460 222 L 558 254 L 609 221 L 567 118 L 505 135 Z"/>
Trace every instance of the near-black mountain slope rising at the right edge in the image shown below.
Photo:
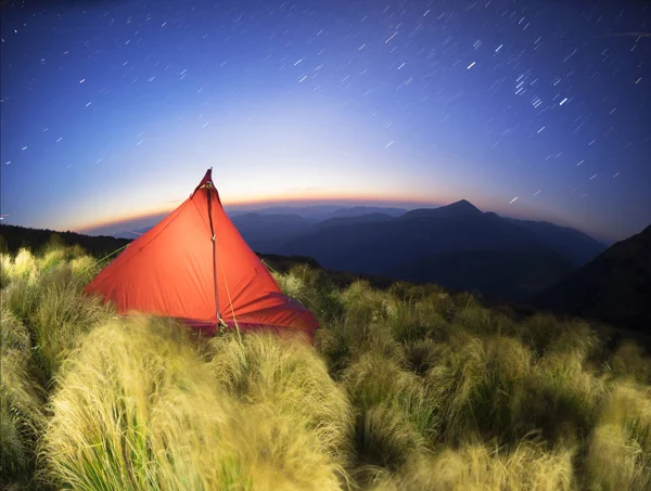
<path fill-rule="evenodd" d="M 651 328 L 651 225 L 546 289 L 535 307 L 612 325 Z"/>

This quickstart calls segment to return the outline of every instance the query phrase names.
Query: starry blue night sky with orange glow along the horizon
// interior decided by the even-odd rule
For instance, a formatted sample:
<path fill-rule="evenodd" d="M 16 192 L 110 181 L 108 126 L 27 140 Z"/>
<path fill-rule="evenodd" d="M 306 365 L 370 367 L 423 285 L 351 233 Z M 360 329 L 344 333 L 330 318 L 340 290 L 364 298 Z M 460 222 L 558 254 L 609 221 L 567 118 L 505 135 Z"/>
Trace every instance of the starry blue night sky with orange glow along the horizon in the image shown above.
<path fill-rule="evenodd" d="M 651 2 L 569 3 L 7 3 L 4 222 L 159 212 L 213 167 L 227 205 L 465 198 L 624 238 L 651 223 Z"/>

